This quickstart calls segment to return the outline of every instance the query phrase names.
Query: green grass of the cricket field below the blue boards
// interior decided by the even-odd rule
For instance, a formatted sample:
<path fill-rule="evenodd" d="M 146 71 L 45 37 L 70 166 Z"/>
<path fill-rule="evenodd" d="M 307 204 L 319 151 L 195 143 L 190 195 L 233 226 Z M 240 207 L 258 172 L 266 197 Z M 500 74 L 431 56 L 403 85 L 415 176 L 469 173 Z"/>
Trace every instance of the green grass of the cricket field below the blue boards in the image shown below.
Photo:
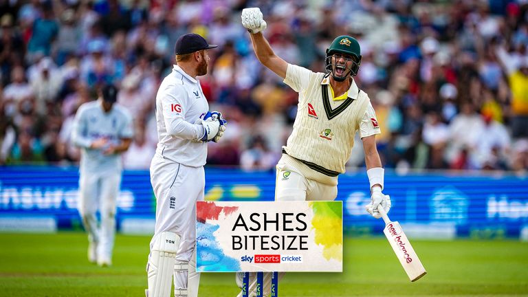
<path fill-rule="evenodd" d="M 0 234 L 0 296 L 144 296 L 148 236 L 118 235 L 113 266 L 88 263 L 83 233 Z M 528 244 L 413 241 L 428 274 L 410 283 L 384 237 L 347 239 L 343 273 L 287 274 L 279 296 L 528 296 Z M 200 296 L 236 296 L 202 274 Z"/>

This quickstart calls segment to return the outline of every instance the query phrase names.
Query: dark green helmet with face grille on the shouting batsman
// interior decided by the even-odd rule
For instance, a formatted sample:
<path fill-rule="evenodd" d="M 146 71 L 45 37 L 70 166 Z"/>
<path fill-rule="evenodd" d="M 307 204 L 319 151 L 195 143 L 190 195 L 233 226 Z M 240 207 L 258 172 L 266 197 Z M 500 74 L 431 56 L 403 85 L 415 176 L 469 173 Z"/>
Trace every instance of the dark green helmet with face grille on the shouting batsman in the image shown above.
<path fill-rule="evenodd" d="M 340 76 L 336 74 L 335 72 L 335 66 L 331 63 L 331 57 L 333 54 L 341 53 L 341 54 L 348 54 L 353 56 L 352 60 L 352 66 L 349 69 L 350 71 L 344 72 L 344 75 Z M 336 39 L 332 41 L 330 44 L 330 47 L 327 48 L 327 56 L 325 58 L 325 66 L 327 69 L 327 72 L 330 72 L 334 79 L 338 81 L 342 81 L 347 76 L 355 76 L 358 74 L 358 70 L 360 69 L 361 64 L 361 48 L 360 43 L 353 38 L 352 36 L 342 35 L 338 36 Z"/>

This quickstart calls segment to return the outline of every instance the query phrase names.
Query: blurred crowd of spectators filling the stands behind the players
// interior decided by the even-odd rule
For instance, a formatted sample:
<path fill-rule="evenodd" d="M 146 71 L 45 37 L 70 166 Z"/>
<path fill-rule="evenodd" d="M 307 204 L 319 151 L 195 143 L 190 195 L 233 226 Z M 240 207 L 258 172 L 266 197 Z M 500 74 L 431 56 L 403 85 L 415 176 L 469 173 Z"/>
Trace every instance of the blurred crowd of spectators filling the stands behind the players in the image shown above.
<path fill-rule="evenodd" d="M 124 166 L 148 168 L 157 87 L 177 38 L 195 32 L 219 45 L 200 82 L 228 120 L 208 164 L 272 170 L 297 94 L 256 61 L 245 7 L 261 8 L 278 56 L 316 72 L 336 36 L 360 41 L 355 80 L 386 168 L 528 169 L 525 0 L 0 0 L 0 164 L 78 162 L 76 110 L 114 83 L 135 121 Z M 364 166 L 359 140 L 348 165 Z"/>

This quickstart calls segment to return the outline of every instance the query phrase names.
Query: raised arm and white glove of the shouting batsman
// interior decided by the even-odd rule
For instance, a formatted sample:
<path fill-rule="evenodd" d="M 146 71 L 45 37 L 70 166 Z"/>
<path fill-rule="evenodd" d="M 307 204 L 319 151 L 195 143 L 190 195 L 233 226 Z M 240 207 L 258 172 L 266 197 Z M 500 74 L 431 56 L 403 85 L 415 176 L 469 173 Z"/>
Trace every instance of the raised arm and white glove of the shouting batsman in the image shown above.
<path fill-rule="evenodd" d="M 286 78 L 288 63 L 273 52 L 270 43 L 267 42 L 262 32 L 267 27 L 259 8 L 245 8 L 242 10 L 242 25 L 251 34 L 251 42 L 256 58 L 265 67 L 275 72 L 281 78 Z"/>

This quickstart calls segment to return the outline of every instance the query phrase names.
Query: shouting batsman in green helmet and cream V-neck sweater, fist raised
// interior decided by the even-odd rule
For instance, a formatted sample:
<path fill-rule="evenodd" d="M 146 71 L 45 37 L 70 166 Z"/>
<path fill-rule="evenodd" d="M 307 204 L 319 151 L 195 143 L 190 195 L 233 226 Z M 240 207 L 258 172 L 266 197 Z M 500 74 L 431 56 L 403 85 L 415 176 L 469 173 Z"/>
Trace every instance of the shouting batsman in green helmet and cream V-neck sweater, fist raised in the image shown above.
<path fill-rule="evenodd" d="M 299 94 L 294 129 L 276 166 L 275 199 L 336 199 L 338 175 L 344 173 L 355 133 L 360 131 L 371 188 L 371 203 L 366 208 L 380 218 L 377 206 L 381 204 L 388 212 L 391 200 L 382 194 L 384 169 L 375 141 L 380 127 L 369 96 L 353 79 L 361 63 L 358 41 L 338 36 L 327 49 L 327 73 L 315 73 L 276 56 L 262 34 L 267 24 L 259 8 L 245 8 L 242 25 L 251 33 L 259 61 Z M 236 281 L 241 287 L 241 274 L 237 274 Z M 264 292 L 270 294 L 270 282 L 265 284 Z"/>

